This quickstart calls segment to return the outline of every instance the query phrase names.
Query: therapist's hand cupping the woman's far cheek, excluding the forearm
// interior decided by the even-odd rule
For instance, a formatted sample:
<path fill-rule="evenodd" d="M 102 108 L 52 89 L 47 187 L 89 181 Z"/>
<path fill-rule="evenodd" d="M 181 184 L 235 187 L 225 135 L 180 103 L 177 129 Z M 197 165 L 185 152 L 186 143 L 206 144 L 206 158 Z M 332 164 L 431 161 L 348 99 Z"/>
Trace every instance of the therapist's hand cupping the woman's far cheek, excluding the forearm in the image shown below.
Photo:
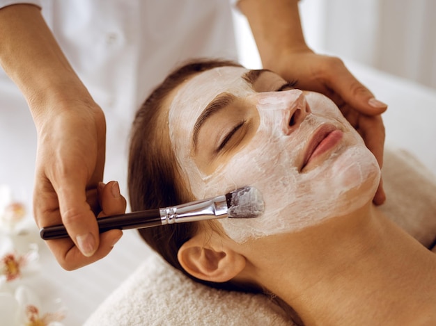
<path fill-rule="evenodd" d="M 359 131 L 382 167 L 384 125 L 380 114 L 386 111 L 387 105 L 375 99 L 348 71 L 342 60 L 303 49 L 282 54 L 274 67 L 269 68 L 289 81 L 297 81 L 298 88 L 321 92 L 332 99 L 350 124 Z M 382 204 L 385 199 L 380 180 L 373 202 Z"/>

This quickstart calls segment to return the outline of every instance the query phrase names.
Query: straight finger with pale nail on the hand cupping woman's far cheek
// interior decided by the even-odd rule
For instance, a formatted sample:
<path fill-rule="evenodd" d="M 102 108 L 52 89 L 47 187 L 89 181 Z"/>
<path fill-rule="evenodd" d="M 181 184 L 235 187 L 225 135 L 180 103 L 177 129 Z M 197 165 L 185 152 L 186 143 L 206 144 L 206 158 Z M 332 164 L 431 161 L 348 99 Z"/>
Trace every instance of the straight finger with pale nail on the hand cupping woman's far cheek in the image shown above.
<path fill-rule="evenodd" d="M 352 108 L 365 115 L 380 115 L 387 110 L 387 104 L 375 99 L 373 93 L 361 84 L 345 67 L 335 72 L 330 80 L 332 88 Z"/>

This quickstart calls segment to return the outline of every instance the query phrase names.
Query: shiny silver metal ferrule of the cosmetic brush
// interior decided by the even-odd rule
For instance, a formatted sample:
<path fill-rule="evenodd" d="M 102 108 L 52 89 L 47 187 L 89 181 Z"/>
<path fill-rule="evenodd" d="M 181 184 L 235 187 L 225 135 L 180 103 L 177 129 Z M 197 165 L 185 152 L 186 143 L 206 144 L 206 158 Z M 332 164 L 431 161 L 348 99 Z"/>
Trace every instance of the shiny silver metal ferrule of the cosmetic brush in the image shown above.
<path fill-rule="evenodd" d="M 227 211 L 225 195 L 159 209 L 162 225 L 226 218 Z"/>

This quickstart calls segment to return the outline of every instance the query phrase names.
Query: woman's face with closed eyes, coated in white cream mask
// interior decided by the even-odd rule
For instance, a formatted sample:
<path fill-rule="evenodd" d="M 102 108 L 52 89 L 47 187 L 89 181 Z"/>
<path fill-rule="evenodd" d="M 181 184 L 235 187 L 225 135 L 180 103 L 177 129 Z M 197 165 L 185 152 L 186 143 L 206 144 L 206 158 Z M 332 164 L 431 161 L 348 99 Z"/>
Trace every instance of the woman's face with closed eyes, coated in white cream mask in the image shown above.
<path fill-rule="evenodd" d="M 336 105 L 273 72 L 215 68 L 169 101 L 171 145 L 196 198 L 263 194 L 260 217 L 219 220 L 239 243 L 351 213 L 377 189 L 377 161 Z"/>

